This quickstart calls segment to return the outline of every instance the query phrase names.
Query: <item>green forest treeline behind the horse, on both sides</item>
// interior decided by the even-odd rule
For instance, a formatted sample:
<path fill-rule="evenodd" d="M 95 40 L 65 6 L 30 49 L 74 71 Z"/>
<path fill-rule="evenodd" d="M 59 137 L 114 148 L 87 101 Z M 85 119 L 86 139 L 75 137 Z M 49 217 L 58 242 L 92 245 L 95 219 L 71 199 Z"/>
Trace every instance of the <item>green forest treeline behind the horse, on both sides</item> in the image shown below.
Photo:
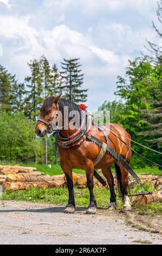
<path fill-rule="evenodd" d="M 157 10 L 162 25 L 162 1 Z M 158 41 L 162 31 L 155 26 Z M 162 52 L 159 42 L 148 41 L 148 56 L 129 60 L 125 76 L 116 80 L 115 100 L 105 101 L 99 110 L 111 111 L 111 122 L 125 127 L 132 139 L 161 151 L 162 148 Z M 44 162 L 44 140 L 35 136 L 35 122 L 44 97 L 48 93 L 62 96 L 76 103 L 87 101 L 88 90 L 83 89 L 80 59 L 63 59 L 61 70 L 56 64 L 50 66 L 45 56 L 31 60 L 30 76 L 23 83 L 0 65 L 0 160 Z M 105 84 L 105 90 L 111 84 Z M 48 143 L 48 163 L 55 162 L 55 137 Z M 132 147 L 148 159 L 161 163 L 161 155 Z M 133 155 L 133 166 L 147 163 Z"/>

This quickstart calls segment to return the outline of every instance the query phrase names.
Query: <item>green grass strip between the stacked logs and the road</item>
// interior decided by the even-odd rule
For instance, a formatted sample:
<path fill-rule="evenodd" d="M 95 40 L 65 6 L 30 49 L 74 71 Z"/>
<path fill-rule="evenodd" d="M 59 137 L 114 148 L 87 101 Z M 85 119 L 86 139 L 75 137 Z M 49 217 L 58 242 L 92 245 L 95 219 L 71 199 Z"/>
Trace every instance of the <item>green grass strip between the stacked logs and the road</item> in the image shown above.
<path fill-rule="evenodd" d="M 145 187 L 149 191 L 152 191 L 151 186 Z M 141 190 L 140 186 L 135 187 L 131 190 L 131 193 L 136 193 Z M 106 188 L 94 187 L 94 194 L 96 202 L 98 202 L 99 208 L 107 208 L 110 192 Z M 67 187 L 60 188 L 30 188 L 30 190 L 18 190 L 18 191 L 4 191 L 3 198 L 1 200 L 25 200 L 29 202 L 42 202 L 50 204 L 63 204 L 66 205 L 68 202 L 68 189 Z M 75 202 L 76 206 L 88 206 L 89 204 L 89 191 L 88 188 L 77 188 L 75 187 Z M 117 197 L 118 210 L 122 209 L 122 200 Z M 142 215 L 155 215 L 162 214 L 162 204 L 160 202 L 153 202 L 148 205 L 133 205 L 134 211 L 137 214 Z"/>

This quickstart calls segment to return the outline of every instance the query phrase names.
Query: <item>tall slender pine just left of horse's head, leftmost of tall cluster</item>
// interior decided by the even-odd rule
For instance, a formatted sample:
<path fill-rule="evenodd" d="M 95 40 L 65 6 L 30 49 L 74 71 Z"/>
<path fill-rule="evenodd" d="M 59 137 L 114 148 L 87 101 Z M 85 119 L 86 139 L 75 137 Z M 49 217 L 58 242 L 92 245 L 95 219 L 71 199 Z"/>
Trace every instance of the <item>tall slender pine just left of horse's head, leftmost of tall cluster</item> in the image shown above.
<path fill-rule="evenodd" d="M 31 76 L 25 77 L 25 82 L 27 82 L 27 88 L 29 89 L 25 98 L 25 115 L 30 119 L 36 120 L 43 101 L 43 77 L 38 60 L 30 60 L 28 65 Z"/>

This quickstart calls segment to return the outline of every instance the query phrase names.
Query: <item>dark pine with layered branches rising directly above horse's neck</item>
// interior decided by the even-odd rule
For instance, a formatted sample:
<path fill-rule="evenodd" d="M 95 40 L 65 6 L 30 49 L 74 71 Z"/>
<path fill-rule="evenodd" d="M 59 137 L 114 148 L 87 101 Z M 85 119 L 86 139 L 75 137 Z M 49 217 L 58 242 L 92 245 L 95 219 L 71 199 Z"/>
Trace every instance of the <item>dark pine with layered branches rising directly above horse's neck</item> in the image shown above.
<path fill-rule="evenodd" d="M 81 74 L 79 58 L 63 59 L 61 62 L 61 76 L 65 82 L 65 97 L 75 103 L 85 102 L 87 100 L 87 90 L 82 89 L 83 74 Z"/>

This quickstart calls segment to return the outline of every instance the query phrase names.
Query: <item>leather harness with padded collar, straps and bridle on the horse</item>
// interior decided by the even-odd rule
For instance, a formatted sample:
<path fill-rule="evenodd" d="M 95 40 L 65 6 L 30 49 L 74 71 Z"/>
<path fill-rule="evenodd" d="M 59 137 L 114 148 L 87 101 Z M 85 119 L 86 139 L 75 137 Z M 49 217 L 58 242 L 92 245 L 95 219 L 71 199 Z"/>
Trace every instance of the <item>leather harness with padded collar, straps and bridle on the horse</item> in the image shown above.
<path fill-rule="evenodd" d="M 57 102 L 57 105 L 56 105 L 56 114 L 55 114 L 54 118 L 51 121 L 46 121 L 42 118 L 38 118 L 38 121 L 41 121 L 42 123 L 47 125 L 47 132 L 52 132 L 53 131 L 52 124 L 53 124 L 54 119 L 58 118 L 58 114 L 57 114 L 58 110 L 59 110 L 59 102 Z M 58 131 L 57 131 L 57 134 L 56 134 L 56 142 L 62 148 L 70 148 L 70 147 L 75 147 L 75 145 L 80 145 L 83 141 L 88 139 L 88 141 L 94 142 L 95 144 L 99 145 L 99 147 L 101 148 L 98 157 L 96 157 L 96 159 L 94 160 L 94 166 L 101 161 L 103 155 L 105 155 L 105 153 L 107 152 L 107 153 L 111 154 L 115 158 L 116 161 L 120 162 L 128 170 L 129 174 L 131 174 L 133 176 L 134 180 L 138 184 L 140 184 L 141 183 L 140 178 L 138 177 L 138 175 L 134 172 L 134 170 L 131 168 L 131 166 L 129 166 L 129 164 L 126 161 L 129 150 L 131 149 L 131 141 L 132 141 L 131 136 L 129 135 L 129 133 L 128 133 L 128 139 L 129 139 L 129 145 L 128 145 L 120 137 L 118 137 L 115 134 L 116 133 L 115 130 L 112 129 L 113 131 L 115 131 L 115 133 L 110 130 L 110 132 L 113 133 L 116 138 L 120 139 L 120 141 L 122 141 L 128 147 L 128 151 L 127 151 L 126 157 L 124 159 L 119 153 L 117 153 L 113 148 L 111 148 L 109 146 L 108 139 L 110 139 L 110 138 L 106 135 L 105 130 L 102 129 L 100 126 L 98 126 L 96 124 L 93 124 L 94 126 L 97 127 L 98 130 L 103 132 L 103 135 L 106 138 L 106 143 L 100 141 L 100 139 L 94 137 L 93 135 L 91 135 L 89 133 L 90 129 L 92 128 L 92 121 L 91 121 L 91 119 L 88 118 L 87 111 L 85 111 L 85 109 L 82 109 L 82 111 L 84 113 L 84 118 L 83 118 L 83 121 L 82 121 L 82 124 L 81 124 L 79 130 L 77 130 L 72 136 L 69 136 L 68 138 L 63 138 L 61 136 L 61 132 L 60 132 L 59 129 L 62 129 L 65 126 L 58 127 Z M 94 170 L 94 176 L 95 176 L 96 179 L 98 179 L 101 182 L 101 184 L 103 186 L 108 187 L 107 182 L 102 179 L 102 177 L 99 175 L 98 172 L 96 172 L 96 170 Z M 142 184 L 141 184 L 141 186 L 142 186 Z M 144 193 L 148 194 L 148 193 L 152 193 L 152 192 L 146 191 L 146 192 L 140 192 L 139 194 L 144 194 Z"/>

